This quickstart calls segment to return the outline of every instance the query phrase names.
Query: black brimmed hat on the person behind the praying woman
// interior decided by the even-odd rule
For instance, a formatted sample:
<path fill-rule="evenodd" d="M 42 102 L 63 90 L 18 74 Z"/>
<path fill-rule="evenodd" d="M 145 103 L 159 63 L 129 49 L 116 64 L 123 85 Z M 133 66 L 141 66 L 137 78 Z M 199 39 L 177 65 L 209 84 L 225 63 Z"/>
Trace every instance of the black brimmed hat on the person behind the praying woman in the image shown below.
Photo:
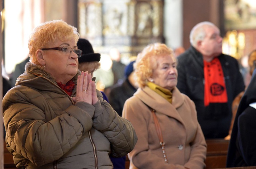
<path fill-rule="evenodd" d="M 83 51 L 81 57 L 78 58 L 79 63 L 100 61 L 100 53 L 94 53 L 93 46 L 88 40 L 80 38 L 76 45 Z"/>

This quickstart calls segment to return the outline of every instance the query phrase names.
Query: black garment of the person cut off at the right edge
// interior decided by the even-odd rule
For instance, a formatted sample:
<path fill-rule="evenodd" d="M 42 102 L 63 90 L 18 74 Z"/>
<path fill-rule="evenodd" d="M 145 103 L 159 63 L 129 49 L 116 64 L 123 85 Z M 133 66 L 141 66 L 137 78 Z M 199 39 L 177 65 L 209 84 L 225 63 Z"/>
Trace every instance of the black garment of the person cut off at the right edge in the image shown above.
<path fill-rule="evenodd" d="M 247 87 L 238 106 L 229 142 L 227 167 L 256 166 L 256 76 Z"/>

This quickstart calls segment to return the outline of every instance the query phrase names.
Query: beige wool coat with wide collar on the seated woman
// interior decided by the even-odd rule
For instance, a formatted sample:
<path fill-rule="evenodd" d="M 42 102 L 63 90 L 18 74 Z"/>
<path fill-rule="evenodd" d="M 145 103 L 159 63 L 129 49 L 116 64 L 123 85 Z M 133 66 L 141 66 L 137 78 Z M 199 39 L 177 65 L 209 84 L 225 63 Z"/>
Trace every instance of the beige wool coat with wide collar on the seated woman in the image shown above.
<path fill-rule="evenodd" d="M 128 119 L 138 136 L 128 154 L 130 169 L 203 169 L 207 144 L 197 121 L 195 104 L 175 87 L 172 104 L 148 87 L 139 88 L 125 102 L 123 117 Z M 169 163 L 159 144 L 151 110 L 156 110 Z"/>

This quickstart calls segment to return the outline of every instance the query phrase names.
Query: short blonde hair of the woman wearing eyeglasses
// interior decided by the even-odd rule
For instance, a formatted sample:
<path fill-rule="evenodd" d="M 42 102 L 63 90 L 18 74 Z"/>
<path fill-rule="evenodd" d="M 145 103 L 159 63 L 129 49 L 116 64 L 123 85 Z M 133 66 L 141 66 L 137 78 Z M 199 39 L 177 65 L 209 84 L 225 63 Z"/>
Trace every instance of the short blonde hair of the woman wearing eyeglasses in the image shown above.
<path fill-rule="evenodd" d="M 57 40 L 67 41 L 70 39 L 77 42 L 79 33 L 77 32 L 77 28 L 67 24 L 67 22 L 63 20 L 52 20 L 42 23 L 33 29 L 28 40 L 30 62 L 39 65 L 35 56 L 38 49 L 51 47 Z"/>

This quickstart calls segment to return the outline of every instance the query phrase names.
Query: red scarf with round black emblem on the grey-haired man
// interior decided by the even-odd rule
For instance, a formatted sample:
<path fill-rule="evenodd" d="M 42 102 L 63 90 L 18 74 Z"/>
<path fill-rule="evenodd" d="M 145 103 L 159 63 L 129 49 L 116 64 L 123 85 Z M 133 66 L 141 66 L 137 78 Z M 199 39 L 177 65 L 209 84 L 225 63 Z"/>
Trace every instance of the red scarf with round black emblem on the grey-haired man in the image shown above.
<path fill-rule="evenodd" d="M 211 62 L 203 61 L 204 106 L 210 103 L 227 103 L 227 90 L 221 62 L 216 57 Z"/>

